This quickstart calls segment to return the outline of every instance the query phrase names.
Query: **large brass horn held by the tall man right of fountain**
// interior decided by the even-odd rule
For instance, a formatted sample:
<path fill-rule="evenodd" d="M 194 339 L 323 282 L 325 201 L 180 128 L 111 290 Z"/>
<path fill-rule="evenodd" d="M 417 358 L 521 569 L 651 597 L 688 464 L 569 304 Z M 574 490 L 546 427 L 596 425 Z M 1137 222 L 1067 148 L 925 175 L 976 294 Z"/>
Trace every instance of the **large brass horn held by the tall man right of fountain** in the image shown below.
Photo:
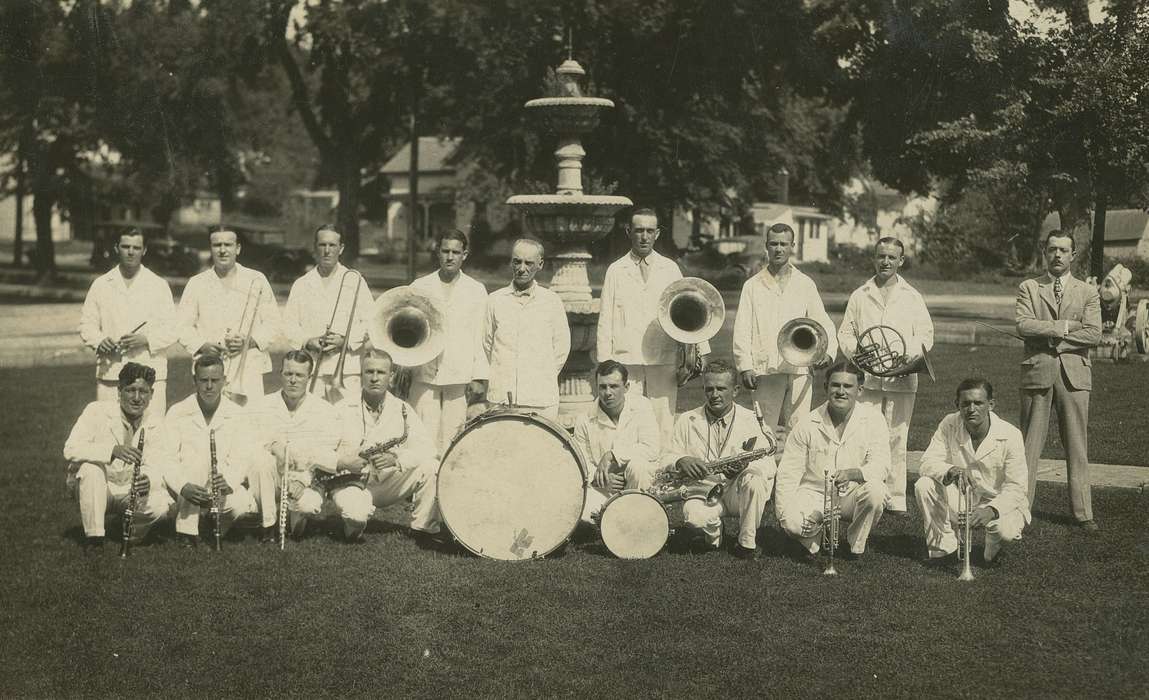
<path fill-rule="evenodd" d="M 714 338 L 726 320 L 722 294 L 705 279 L 684 277 L 658 297 L 658 325 L 681 344 L 678 348 L 678 385 L 702 374 L 699 344 Z"/>

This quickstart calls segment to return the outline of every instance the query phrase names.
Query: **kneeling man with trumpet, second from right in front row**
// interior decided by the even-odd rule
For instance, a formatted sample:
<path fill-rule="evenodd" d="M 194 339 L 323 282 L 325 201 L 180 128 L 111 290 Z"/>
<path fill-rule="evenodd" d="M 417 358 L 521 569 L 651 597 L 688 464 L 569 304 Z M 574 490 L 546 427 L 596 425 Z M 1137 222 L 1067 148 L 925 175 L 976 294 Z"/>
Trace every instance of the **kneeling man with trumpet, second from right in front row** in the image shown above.
<path fill-rule="evenodd" d="M 786 440 L 778 464 L 778 522 L 807 552 L 822 539 L 826 471 L 849 521 L 850 554 L 865 552 L 870 530 L 881 518 L 889 470 L 889 430 L 872 407 L 858 405 L 865 375 L 847 362 L 826 370 L 826 402 L 803 416 Z"/>

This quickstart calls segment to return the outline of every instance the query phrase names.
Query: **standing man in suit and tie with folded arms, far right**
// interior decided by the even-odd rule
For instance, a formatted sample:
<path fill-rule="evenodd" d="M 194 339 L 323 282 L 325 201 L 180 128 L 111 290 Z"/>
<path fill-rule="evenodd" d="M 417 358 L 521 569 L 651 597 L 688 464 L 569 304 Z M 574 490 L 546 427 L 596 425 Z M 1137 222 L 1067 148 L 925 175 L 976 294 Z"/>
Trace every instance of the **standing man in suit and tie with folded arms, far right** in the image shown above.
<path fill-rule="evenodd" d="M 1017 332 L 1025 339 L 1021 360 L 1021 432 L 1030 469 L 1030 507 L 1038 489 L 1038 463 L 1049 432 L 1049 413 L 1057 407 L 1057 431 L 1065 446 L 1070 506 L 1087 532 L 1096 532 L 1089 484 L 1089 348 L 1101 343 L 1097 289 L 1075 279 L 1070 264 L 1077 255 L 1073 236 L 1046 236 L 1046 274 L 1026 279 L 1017 291 Z"/>

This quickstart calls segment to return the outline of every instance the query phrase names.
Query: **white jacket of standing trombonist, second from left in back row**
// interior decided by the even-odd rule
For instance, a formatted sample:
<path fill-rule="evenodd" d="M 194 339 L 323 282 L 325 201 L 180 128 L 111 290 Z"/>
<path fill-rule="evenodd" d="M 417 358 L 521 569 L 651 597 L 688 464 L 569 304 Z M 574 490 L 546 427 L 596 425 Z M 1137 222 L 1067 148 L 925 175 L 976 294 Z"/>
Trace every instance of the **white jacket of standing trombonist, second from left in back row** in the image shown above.
<path fill-rule="evenodd" d="M 245 306 L 247 318 L 242 318 Z M 208 268 L 188 279 L 179 298 L 179 341 L 193 355 L 205 343 L 223 345 L 228 332 L 247 332 L 252 314 L 255 314 L 252 326 L 255 347 L 247 351 L 246 367 L 267 374 L 271 371 L 268 348 L 279 337 L 279 309 L 268 278 L 259 270 L 236 263 L 226 278 L 216 275 L 215 268 Z M 225 369 L 230 369 L 231 361 L 232 357 L 224 357 Z"/>

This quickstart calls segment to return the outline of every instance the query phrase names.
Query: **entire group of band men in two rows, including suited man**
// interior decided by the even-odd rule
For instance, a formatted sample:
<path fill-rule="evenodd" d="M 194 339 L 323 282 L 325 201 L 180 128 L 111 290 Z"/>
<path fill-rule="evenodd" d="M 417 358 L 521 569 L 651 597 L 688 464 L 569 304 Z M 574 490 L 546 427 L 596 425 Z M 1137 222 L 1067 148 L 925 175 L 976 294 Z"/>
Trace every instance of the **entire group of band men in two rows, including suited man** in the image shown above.
<path fill-rule="evenodd" d="M 838 518 L 848 522 L 848 555 L 864 553 L 885 513 L 907 511 L 905 444 L 919 382 L 912 371 L 867 374 L 851 360 L 874 326 L 904 339 L 899 362 L 907 368 L 933 347 L 923 297 L 899 275 L 902 244 L 878 241 L 874 276 L 850 295 L 835 329 L 813 280 L 789 262 L 793 229 L 770 226 L 766 264 L 741 291 L 733 361 L 714 357 L 704 341 L 691 348 L 701 356 L 704 401 L 676 416 L 684 348 L 658 315 L 663 291 L 683 275 L 654 249 L 653 210 L 635 210 L 626 234 L 631 249 L 610 264 L 602 287 L 595 402 L 576 418 L 571 438 L 585 464 L 581 518 L 599 523 L 620 493 L 691 483 L 708 498 L 677 499 L 674 507 L 694 548 L 720 547 L 725 534 L 737 556 L 756 557 L 774 499 L 779 526 L 811 555 L 825 543 L 831 515 L 835 534 Z M 410 290 L 441 310 L 442 352 L 416 364 L 400 355 L 403 343 L 369 339 L 381 323 L 372 318 L 375 299 L 363 277 L 340 263 L 332 226 L 316 231 L 317 264 L 295 280 L 282 309 L 265 277 L 238 262 L 232 231 L 210 233 L 211 266 L 188 280 L 178 306 L 168 283 L 142 264 L 142 236 L 123 234 L 119 264 L 92 283 L 82 311 L 80 338 L 97 354 L 97 401 L 63 451 L 85 543 L 102 543 L 109 513 L 125 509 L 132 541 L 170 518 L 177 538 L 195 546 L 210 515 L 216 538 L 249 516 L 259 518 L 261 539 L 283 543 L 284 534 L 302 537 L 325 508 L 338 513 L 342 536 L 358 541 L 377 508 L 408 501 L 415 536 L 445 540 L 437 499 L 444 455 L 484 409 L 557 421 L 571 332 L 560 297 L 534 279 L 543 267 L 538 241 L 515 241 L 510 284 L 489 294 L 462 271 L 463 233 L 442 236 L 437 251 L 439 269 Z M 1074 253 L 1072 237 L 1051 232 L 1047 274 L 1018 290 L 1020 430 L 994 411 L 987 378 L 953 390 L 955 413 L 941 418 L 913 484 L 933 560 L 957 552 L 959 511 L 962 524 L 985 528 L 986 562 L 1021 538 L 1055 406 L 1073 516 L 1086 530 L 1097 528 L 1087 459 L 1088 348 L 1100 341 L 1101 310 L 1097 291 L 1070 274 Z M 787 361 L 780 347 L 794 320 L 824 334 L 808 362 Z M 283 359 L 282 389 L 265 394 L 268 349 L 280 337 L 298 349 Z M 176 343 L 194 357 L 195 391 L 169 408 L 165 349 Z M 406 400 L 393 391 L 400 374 L 409 379 Z M 817 407 L 813 382 L 826 390 Z M 735 400 L 742 391 L 755 410 Z M 737 469 L 715 469 L 726 462 Z"/>

